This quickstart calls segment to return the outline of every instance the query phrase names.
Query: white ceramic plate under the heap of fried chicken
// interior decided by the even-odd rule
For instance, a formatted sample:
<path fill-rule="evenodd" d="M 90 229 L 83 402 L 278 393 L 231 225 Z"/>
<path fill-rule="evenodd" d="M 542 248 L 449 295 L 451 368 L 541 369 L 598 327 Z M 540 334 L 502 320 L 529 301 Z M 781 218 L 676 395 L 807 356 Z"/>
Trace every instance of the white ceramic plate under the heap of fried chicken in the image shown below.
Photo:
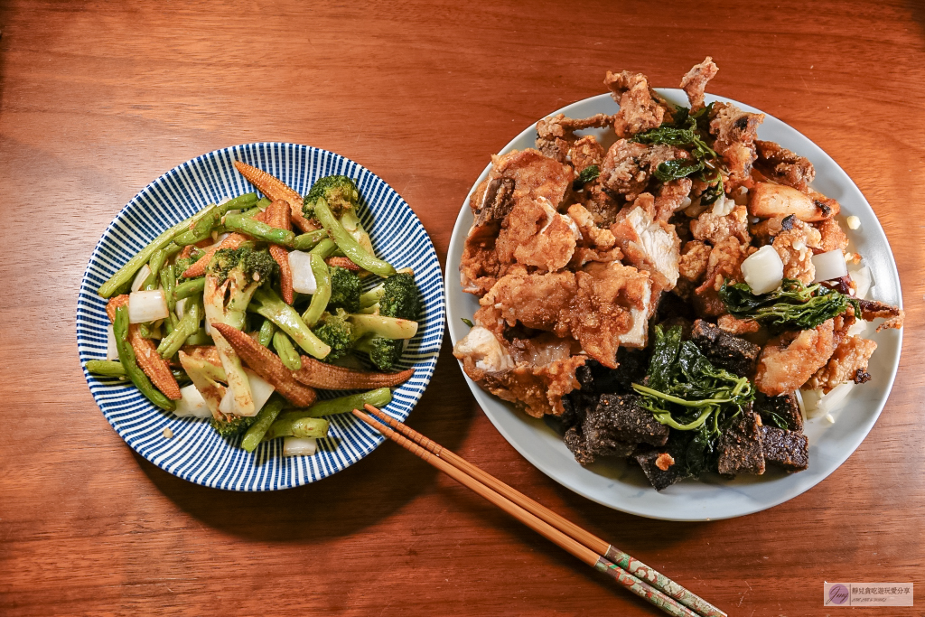
<path fill-rule="evenodd" d="M 681 90 L 659 89 L 659 92 L 672 103 L 687 105 L 687 99 Z M 760 111 L 749 105 L 709 94 L 706 98 L 708 103 L 728 101 L 747 111 Z M 614 114 L 619 108 L 609 94 L 600 94 L 552 113 L 561 112 L 567 117 L 589 117 L 598 113 Z M 579 134 L 588 132 L 597 135 L 605 147 L 616 139 L 612 130 L 590 130 Z M 778 142 L 785 148 L 806 156 L 816 167 L 813 187 L 838 200 L 842 204 L 843 216 L 855 215 L 860 218 L 860 228 L 856 231 L 846 231 L 852 241 L 853 250 L 864 256 L 865 263 L 873 273 L 876 286 L 871 290 L 869 297 L 901 305 L 899 275 L 890 245 L 877 216 L 870 209 L 870 204 L 845 171 L 815 143 L 768 114 L 765 114 L 764 124 L 759 127 L 759 136 L 762 140 Z M 535 139 L 536 124 L 514 138 L 499 154 L 532 148 Z M 490 165 L 475 180 L 472 191 L 475 191 L 479 182 L 487 177 L 489 168 Z M 469 330 L 469 327 L 462 323 L 462 317 L 471 318 L 478 309 L 475 296 L 462 292 L 458 271 L 462 258 L 462 244 L 472 222 L 473 216 L 467 195 L 453 228 L 450 252 L 447 256 L 447 316 L 453 344 L 462 339 Z M 869 327 L 868 331 L 871 332 L 872 328 Z M 622 461 L 594 463 L 582 467 L 575 462 L 572 452 L 565 447 L 561 438 L 542 420 L 516 412 L 508 403 L 488 394 L 468 377 L 466 380 L 475 394 L 475 399 L 501 435 L 523 454 L 524 458 L 561 485 L 571 488 L 589 500 L 640 516 L 671 521 L 715 520 L 759 512 L 792 499 L 832 474 L 857 449 L 876 422 L 893 387 L 896 367 L 899 364 L 902 331 L 885 330 L 870 338 L 876 340 L 878 345 L 870 360 L 870 382 L 852 389 L 842 408 L 833 413 L 835 424 L 818 418 L 810 420 L 805 428 L 809 438 L 809 468 L 806 471 L 785 475 L 769 470 L 765 475 L 744 475 L 734 480 L 724 480 L 719 475 L 710 475 L 705 476 L 706 481 L 685 480 L 661 492 L 657 492 L 648 484 L 639 469 Z"/>

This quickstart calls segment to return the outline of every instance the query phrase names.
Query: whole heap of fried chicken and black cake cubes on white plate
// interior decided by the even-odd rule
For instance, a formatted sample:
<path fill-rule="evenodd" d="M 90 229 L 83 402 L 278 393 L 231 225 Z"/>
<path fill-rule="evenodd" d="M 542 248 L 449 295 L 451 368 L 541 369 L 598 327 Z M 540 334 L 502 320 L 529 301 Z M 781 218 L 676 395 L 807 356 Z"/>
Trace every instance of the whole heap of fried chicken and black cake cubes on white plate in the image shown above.
<path fill-rule="evenodd" d="M 550 418 L 579 463 L 625 457 L 659 490 L 705 471 L 805 469 L 795 391 L 869 380 L 876 344 L 854 324 L 883 319 L 880 331 L 902 327 L 904 316 L 863 299 L 864 277 L 850 267 L 823 281 L 850 302 L 794 322 L 807 327 L 731 314 L 723 294 L 746 283 L 746 260 L 763 247 L 783 278 L 807 289 L 820 253 L 840 253 L 830 264 L 858 257 L 846 253 L 840 204 L 811 186 L 812 163 L 759 140 L 762 114 L 706 105 L 717 71 L 707 57 L 685 74 L 689 109 L 665 101 L 645 75 L 608 72 L 616 114 L 537 122 L 536 149 L 492 156 L 469 200 L 460 264 L 462 290 L 479 298 L 474 327 L 453 349 L 466 375 Z M 600 141 L 600 130 L 612 134 Z M 685 353 L 699 350 L 754 401 L 711 418 L 709 431 L 660 424 L 640 398 L 651 393 L 633 388 L 648 383 L 655 325 L 681 326 Z"/>

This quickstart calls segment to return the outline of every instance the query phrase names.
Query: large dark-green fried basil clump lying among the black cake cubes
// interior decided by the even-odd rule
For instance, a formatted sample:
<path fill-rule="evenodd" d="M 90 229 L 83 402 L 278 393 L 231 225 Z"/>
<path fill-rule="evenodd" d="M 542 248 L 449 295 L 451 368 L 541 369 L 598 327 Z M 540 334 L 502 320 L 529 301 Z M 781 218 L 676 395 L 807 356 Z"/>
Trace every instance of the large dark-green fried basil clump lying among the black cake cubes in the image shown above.
<path fill-rule="evenodd" d="M 684 463 L 697 477 L 712 467 L 720 434 L 755 400 L 755 389 L 747 377 L 713 366 L 697 345 L 681 339 L 681 331 L 680 326 L 655 327 L 645 385 L 633 384 L 633 389 L 661 424 L 690 432 Z"/>

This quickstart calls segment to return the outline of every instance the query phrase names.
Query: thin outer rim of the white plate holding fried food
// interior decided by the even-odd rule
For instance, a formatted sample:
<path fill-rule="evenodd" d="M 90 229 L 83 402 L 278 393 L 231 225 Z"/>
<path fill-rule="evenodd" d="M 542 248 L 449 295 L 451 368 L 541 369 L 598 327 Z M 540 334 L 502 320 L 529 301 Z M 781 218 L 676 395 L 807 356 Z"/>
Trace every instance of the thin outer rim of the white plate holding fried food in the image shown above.
<path fill-rule="evenodd" d="M 669 98 L 685 96 L 684 91 L 682 91 L 679 88 L 655 88 L 654 90 Z M 893 283 L 894 283 L 894 287 L 896 291 L 896 304 L 897 306 L 899 306 L 899 308 L 902 308 L 903 307 L 902 287 L 901 287 L 901 283 L 899 279 L 899 271 L 898 271 L 898 268 L 896 267 L 893 249 L 889 243 L 889 238 L 887 238 L 886 233 L 882 228 L 882 224 L 880 223 L 879 217 L 877 217 L 873 208 L 870 206 L 870 202 L 868 202 L 863 192 L 861 192 L 860 189 L 857 188 L 857 184 L 854 182 L 854 180 L 851 179 L 850 176 L 848 176 L 847 172 L 845 172 L 845 170 L 840 165 L 838 165 L 837 161 L 835 161 L 835 159 L 830 154 L 825 152 L 816 142 L 813 142 L 802 132 L 800 132 L 799 130 L 796 130 L 790 124 L 783 122 L 783 120 L 781 120 L 778 117 L 775 117 L 767 112 L 759 110 L 756 107 L 753 107 L 751 105 L 746 105 L 744 103 L 741 103 L 729 97 L 707 93 L 706 98 L 708 101 L 722 101 L 726 103 L 731 103 L 733 105 L 739 106 L 741 109 L 744 109 L 746 111 L 764 114 L 766 117 L 770 117 L 780 122 L 781 124 L 783 124 L 783 126 L 785 126 L 787 130 L 794 131 L 796 135 L 798 135 L 803 140 L 806 140 L 806 142 L 811 143 L 814 147 L 818 148 L 821 154 L 823 154 L 830 161 L 832 161 L 835 167 L 837 167 L 838 170 L 840 170 L 842 174 L 844 174 L 844 177 L 850 183 L 850 186 L 853 187 L 857 191 L 857 193 L 861 196 L 863 200 L 863 204 L 865 205 L 865 207 L 867 207 L 867 209 L 870 211 L 870 214 L 873 216 L 874 220 L 876 221 L 877 229 L 882 235 L 885 248 L 887 249 L 886 253 L 889 257 L 889 270 L 890 270 L 890 274 L 892 275 L 892 278 L 894 279 Z M 556 114 L 565 114 L 567 117 L 570 117 L 569 111 L 578 105 L 584 105 L 584 104 L 588 104 L 591 102 L 605 101 L 605 100 L 612 101 L 611 95 L 609 93 L 596 94 L 594 96 L 586 97 L 585 99 L 574 101 L 573 103 L 569 105 L 564 105 L 560 107 L 559 109 L 550 112 L 545 117 L 554 116 Z M 542 118 L 539 118 L 539 119 L 542 119 Z M 537 122 L 538 122 L 538 119 L 537 119 Z M 510 152 L 513 149 L 513 145 L 515 143 L 520 142 L 522 139 L 524 139 L 525 136 L 530 135 L 531 133 L 533 135 L 536 135 L 536 122 L 534 122 L 532 125 L 530 125 L 529 127 L 519 132 L 517 135 L 515 135 L 510 142 L 507 142 L 504 145 L 504 147 L 499 150 L 498 154 L 506 154 L 507 152 Z M 454 335 L 452 325 L 454 324 L 453 320 L 459 317 L 460 315 L 455 315 L 455 312 L 453 311 L 450 305 L 450 293 L 456 293 L 457 292 L 456 288 L 461 287 L 461 284 L 458 279 L 459 278 L 458 264 L 454 263 L 452 264 L 452 267 L 451 267 L 450 256 L 454 253 L 453 249 L 458 244 L 462 243 L 462 241 L 464 240 L 464 236 L 468 232 L 468 227 L 462 225 L 462 223 L 465 220 L 466 215 L 468 214 L 467 210 L 469 207 L 468 206 L 469 199 L 471 198 L 472 193 L 475 191 L 478 184 L 483 179 L 485 179 L 490 168 L 491 168 L 491 163 L 488 163 L 487 166 L 479 174 L 477 179 L 475 179 L 475 183 L 472 185 L 472 188 L 466 193 L 466 196 L 462 201 L 462 207 L 460 208 L 459 214 L 456 217 L 456 220 L 453 225 L 453 230 L 450 235 L 450 243 L 449 243 L 449 248 L 447 252 L 447 260 L 446 260 L 446 265 L 444 267 L 444 289 L 445 289 L 444 298 L 445 298 L 445 302 L 447 303 L 446 313 L 447 313 L 448 330 L 450 334 L 450 343 L 454 346 L 457 342 L 457 338 Z M 455 277 L 456 279 L 453 280 L 451 277 Z M 462 315 L 462 316 L 468 317 L 469 315 Z M 505 426 L 502 425 L 500 418 L 496 417 L 494 412 L 487 410 L 486 405 L 483 404 L 483 399 L 497 402 L 503 405 L 506 409 L 508 409 L 509 412 L 515 413 L 518 416 L 523 416 L 524 414 L 518 413 L 516 412 L 516 410 L 512 410 L 509 403 L 500 401 L 497 397 L 494 397 L 491 394 L 487 393 L 485 390 L 481 389 L 478 386 L 478 384 L 476 384 L 475 381 L 473 381 L 468 375 L 465 374 L 465 371 L 462 370 L 462 362 L 457 360 L 457 364 L 460 367 L 462 376 L 465 379 L 466 383 L 468 384 L 469 389 L 472 390 L 473 395 L 475 396 L 475 400 L 479 404 L 479 407 L 482 409 L 483 413 L 487 415 L 488 419 L 491 421 L 492 425 L 495 426 L 495 428 L 498 430 L 501 436 L 505 438 L 505 440 L 514 448 L 514 450 L 517 450 L 521 454 L 521 456 L 523 456 L 524 459 L 527 460 L 528 463 L 531 463 L 534 467 L 536 467 L 536 469 L 541 471 L 543 474 L 549 476 L 549 478 L 551 478 L 552 480 L 555 480 L 556 482 L 561 484 L 561 486 L 566 487 L 569 490 L 572 490 L 573 492 L 581 495 L 582 497 L 585 497 L 588 500 L 595 501 L 596 503 L 599 503 L 600 505 L 606 506 L 608 508 L 611 508 L 613 510 L 617 510 L 620 512 L 634 514 L 635 516 L 640 516 L 643 518 L 650 518 L 650 519 L 664 520 L 664 521 L 676 521 L 676 522 L 718 521 L 718 520 L 723 520 L 723 519 L 735 518 L 738 516 L 746 516 L 748 514 L 753 514 L 756 512 L 762 512 L 764 510 L 768 510 L 770 508 L 778 506 L 785 501 L 792 500 L 798 497 L 799 495 L 807 492 L 811 488 L 816 487 L 818 484 L 820 484 L 820 482 L 828 478 L 830 475 L 833 475 L 833 473 L 836 470 L 838 470 L 838 468 L 841 467 L 842 464 L 844 464 L 845 461 L 852 454 L 854 454 L 854 452 L 857 450 L 860 444 L 863 443 L 864 440 L 868 437 L 868 435 L 870 434 L 870 430 L 872 430 L 873 426 L 877 423 L 877 420 L 880 418 L 880 414 L 882 413 L 884 407 L 886 406 L 886 403 L 889 400 L 890 394 L 893 391 L 894 381 L 895 381 L 896 373 L 898 371 L 900 358 L 902 355 L 903 334 L 904 334 L 904 328 L 901 328 L 896 332 L 896 336 L 897 336 L 897 340 L 895 343 L 896 353 L 894 357 L 890 359 L 889 373 L 885 379 L 884 393 L 882 395 L 882 400 L 878 401 L 876 412 L 870 414 L 869 420 L 865 423 L 865 426 L 862 427 L 863 435 L 861 435 L 860 438 L 857 438 L 857 442 L 854 443 L 854 445 L 850 448 L 850 450 L 839 453 L 839 456 L 837 457 L 835 463 L 831 465 L 831 469 L 829 469 L 828 472 L 820 475 L 819 477 L 814 477 L 813 481 L 808 483 L 806 486 L 798 487 L 795 490 L 784 489 L 783 491 L 781 491 L 781 495 L 778 498 L 771 499 L 768 502 L 761 502 L 759 504 L 756 504 L 754 507 L 745 508 L 742 511 L 730 512 L 728 514 L 722 514 L 722 515 L 713 515 L 709 517 L 672 515 L 671 513 L 667 513 L 667 512 L 660 512 L 660 513 L 638 512 L 632 508 L 621 507 L 620 505 L 616 505 L 612 502 L 607 502 L 605 500 L 602 500 L 598 498 L 598 496 L 595 495 L 594 493 L 584 490 L 582 487 L 573 486 L 574 483 L 570 484 L 567 481 L 568 478 L 565 477 L 565 475 L 557 474 L 555 472 L 553 465 L 545 463 L 543 460 L 535 456 L 533 452 L 528 450 L 527 446 L 525 446 L 522 443 L 519 443 L 517 439 L 512 438 L 512 435 L 509 433 L 509 431 L 505 428 Z M 521 417 L 521 420 L 524 422 L 527 421 L 524 417 Z M 620 482 L 620 480 L 614 479 L 613 482 L 614 483 Z M 652 487 L 645 487 L 645 489 L 654 490 Z"/>

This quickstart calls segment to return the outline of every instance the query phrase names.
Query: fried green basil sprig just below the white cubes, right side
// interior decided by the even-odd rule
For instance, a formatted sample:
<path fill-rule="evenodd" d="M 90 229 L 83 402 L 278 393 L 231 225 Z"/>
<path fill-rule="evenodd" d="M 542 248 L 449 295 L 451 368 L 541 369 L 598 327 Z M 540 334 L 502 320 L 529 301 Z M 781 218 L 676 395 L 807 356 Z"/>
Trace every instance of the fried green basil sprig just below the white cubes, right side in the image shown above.
<path fill-rule="evenodd" d="M 753 294 L 747 283 L 723 282 L 720 300 L 735 317 L 754 319 L 778 330 L 817 327 L 845 313 L 848 306 L 854 306 L 855 314 L 860 315 L 860 305 L 854 298 L 819 283 L 806 286 L 794 278 L 784 278 L 781 287 L 759 295 Z"/>

